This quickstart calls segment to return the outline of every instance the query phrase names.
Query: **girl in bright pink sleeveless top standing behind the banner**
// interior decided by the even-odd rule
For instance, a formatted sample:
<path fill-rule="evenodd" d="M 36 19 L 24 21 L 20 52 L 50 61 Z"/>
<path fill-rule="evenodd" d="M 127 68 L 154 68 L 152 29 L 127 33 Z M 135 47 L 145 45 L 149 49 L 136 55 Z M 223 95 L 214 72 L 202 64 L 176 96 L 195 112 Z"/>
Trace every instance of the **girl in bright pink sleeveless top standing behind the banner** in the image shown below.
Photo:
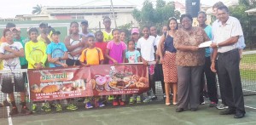
<path fill-rule="evenodd" d="M 106 57 L 109 64 L 119 64 L 125 62 L 125 50 L 126 44 L 120 41 L 120 33 L 118 29 L 112 31 L 113 40 L 108 42 Z M 113 100 L 113 105 L 125 105 L 125 102 L 120 98 L 121 95 L 117 95 Z"/>

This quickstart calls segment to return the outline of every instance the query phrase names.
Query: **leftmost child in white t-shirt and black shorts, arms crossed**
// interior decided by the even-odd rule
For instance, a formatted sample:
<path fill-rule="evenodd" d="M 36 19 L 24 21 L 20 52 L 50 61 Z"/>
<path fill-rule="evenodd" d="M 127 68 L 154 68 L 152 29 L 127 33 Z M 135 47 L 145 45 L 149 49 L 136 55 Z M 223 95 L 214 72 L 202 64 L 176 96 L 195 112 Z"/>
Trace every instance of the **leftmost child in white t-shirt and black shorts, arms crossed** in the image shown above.
<path fill-rule="evenodd" d="M 31 111 L 26 107 L 26 90 L 22 73 L 13 72 L 13 70 L 20 69 L 19 57 L 24 56 L 24 49 L 21 43 L 13 41 L 13 32 L 9 29 L 3 31 L 3 37 L 5 37 L 6 43 L 2 43 L 0 46 L 0 60 L 3 60 L 3 70 L 11 71 L 11 73 L 2 75 L 2 92 L 9 95 L 9 99 L 13 106 L 9 115 L 14 116 L 19 113 L 15 103 L 14 91 L 20 92 L 20 101 L 22 105 L 21 113 L 27 115 L 31 114 Z"/>

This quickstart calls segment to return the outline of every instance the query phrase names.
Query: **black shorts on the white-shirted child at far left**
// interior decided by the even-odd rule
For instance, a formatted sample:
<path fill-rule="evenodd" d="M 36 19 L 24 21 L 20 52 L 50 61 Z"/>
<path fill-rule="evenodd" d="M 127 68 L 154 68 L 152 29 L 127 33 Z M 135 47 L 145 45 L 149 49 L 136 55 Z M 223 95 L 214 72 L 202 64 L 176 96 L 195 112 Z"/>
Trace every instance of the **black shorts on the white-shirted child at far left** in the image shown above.
<path fill-rule="evenodd" d="M 2 74 L 2 89 L 4 94 L 11 94 L 13 92 L 25 92 L 25 83 L 22 73 L 15 73 L 15 84 L 12 83 L 11 73 Z"/>

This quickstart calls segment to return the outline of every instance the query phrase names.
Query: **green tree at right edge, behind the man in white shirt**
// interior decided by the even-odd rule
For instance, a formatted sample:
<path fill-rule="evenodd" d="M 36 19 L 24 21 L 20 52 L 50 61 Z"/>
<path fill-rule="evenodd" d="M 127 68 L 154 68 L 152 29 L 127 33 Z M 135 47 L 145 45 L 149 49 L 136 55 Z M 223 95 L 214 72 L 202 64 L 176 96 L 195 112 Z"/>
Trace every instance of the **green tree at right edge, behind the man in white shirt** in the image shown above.
<path fill-rule="evenodd" d="M 255 16 L 245 13 L 248 9 L 256 8 L 256 0 L 239 0 L 239 5 L 230 7 L 230 15 L 240 20 L 247 47 L 253 48 L 253 21 Z M 255 25 L 255 24 L 254 24 Z"/>

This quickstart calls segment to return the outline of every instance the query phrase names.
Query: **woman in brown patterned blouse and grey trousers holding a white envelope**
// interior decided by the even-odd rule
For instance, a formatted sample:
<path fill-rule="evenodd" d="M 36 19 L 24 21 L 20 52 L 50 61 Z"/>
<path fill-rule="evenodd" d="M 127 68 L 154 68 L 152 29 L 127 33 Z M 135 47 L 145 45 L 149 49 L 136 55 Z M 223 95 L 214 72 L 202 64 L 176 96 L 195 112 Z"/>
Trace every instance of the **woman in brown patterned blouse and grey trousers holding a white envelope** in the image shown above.
<path fill-rule="evenodd" d="M 205 63 L 205 49 L 199 44 L 209 41 L 207 33 L 192 27 L 190 14 L 181 16 L 182 28 L 176 31 L 174 47 L 177 49 L 177 112 L 185 109 L 197 111 L 200 105 L 201 72 Z"/>

